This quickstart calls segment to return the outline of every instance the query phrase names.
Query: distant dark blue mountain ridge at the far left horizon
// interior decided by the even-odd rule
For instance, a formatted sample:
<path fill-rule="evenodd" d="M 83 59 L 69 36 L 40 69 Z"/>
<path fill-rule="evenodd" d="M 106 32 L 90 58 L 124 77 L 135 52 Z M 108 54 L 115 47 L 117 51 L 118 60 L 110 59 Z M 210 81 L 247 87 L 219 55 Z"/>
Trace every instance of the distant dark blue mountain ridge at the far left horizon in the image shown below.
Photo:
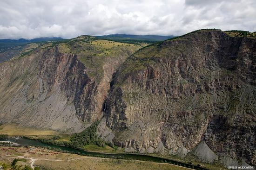
<path fill-rule="evenodd" d="M 22 46 L 28 43 L 38 43 L 45 41 L 60 41 L 63 38 L 60 37 L 44 37 L 44 38 L 34 38 L 34 39 L 0 39 L 0 52 L 6 51 L 16 46 Z"/>

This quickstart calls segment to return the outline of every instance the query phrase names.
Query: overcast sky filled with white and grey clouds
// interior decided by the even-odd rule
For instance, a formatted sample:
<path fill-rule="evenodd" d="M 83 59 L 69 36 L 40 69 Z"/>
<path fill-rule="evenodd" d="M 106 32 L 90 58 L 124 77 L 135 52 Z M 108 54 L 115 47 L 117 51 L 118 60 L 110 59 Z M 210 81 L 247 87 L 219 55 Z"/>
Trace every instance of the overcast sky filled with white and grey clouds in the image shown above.
<path fill-rule="evenodd" d="M 256 0 L 0 0 L 0 39 L 256 31 Z"/>

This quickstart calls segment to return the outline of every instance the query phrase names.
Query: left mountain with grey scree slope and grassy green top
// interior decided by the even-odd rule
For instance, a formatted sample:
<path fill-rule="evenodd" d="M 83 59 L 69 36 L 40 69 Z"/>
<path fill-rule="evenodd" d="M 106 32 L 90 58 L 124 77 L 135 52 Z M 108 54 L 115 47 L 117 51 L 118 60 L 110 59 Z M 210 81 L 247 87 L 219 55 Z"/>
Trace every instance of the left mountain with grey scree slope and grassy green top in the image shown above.
<path fill-rule="evenodd" d="M 44 44 L 0 63 L 0 123 L 74 133 L 100 119 L 113 72 L 140 47 L 97 41 Z"/>

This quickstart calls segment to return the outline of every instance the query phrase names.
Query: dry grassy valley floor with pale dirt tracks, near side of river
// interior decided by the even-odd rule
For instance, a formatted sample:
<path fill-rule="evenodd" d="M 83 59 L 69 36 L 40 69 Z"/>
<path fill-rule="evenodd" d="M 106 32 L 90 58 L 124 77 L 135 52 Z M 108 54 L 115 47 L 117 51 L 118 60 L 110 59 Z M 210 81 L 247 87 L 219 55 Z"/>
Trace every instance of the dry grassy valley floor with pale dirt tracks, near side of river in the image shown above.
<path fill-rule="evenodd" d="M 10 164 L 17 157 L 18 164 L 41 170 L 190 170 L 165 163 L 86 157 L 35 147 L 0 147 L 0 163 Z"/>

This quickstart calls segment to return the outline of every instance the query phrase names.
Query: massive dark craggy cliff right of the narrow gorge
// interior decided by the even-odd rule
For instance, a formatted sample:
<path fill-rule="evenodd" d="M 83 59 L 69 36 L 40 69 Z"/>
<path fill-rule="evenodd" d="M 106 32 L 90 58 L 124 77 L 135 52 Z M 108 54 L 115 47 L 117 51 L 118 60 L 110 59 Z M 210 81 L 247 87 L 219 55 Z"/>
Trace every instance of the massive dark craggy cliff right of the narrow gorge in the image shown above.
<path fill-rule="evenodd" d="M 177 153 L 201 141 L 219 156 L 256 149 L 256 39 L 196 31 L 143 48 L 111 82 L 105 117 L 115 144 Z"/>

